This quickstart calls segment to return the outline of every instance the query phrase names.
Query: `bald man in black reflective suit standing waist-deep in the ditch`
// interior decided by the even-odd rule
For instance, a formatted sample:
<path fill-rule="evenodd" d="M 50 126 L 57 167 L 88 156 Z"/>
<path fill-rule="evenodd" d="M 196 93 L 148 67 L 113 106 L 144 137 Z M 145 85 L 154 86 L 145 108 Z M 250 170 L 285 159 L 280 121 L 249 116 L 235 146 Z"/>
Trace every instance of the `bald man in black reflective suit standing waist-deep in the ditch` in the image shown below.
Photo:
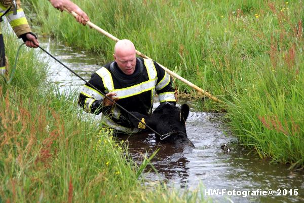
<path fill-rule="evenodd" d="M 134 44 L 129 40 L 117 42 L 114 61 L 102 66 L 92 74 L 89 81 L 94 87 L 115 100 L 130 112 L 149 115 L 158 94 L 160 103 L 176 105 L 171 78 L 157 62 L 136 57 Z M 78 100 L 87 112 L 102 113 L 104 124 L 119 132 L 137 133 L 128 121 L 128 114 L 116 104 L 85 84 Z"/>

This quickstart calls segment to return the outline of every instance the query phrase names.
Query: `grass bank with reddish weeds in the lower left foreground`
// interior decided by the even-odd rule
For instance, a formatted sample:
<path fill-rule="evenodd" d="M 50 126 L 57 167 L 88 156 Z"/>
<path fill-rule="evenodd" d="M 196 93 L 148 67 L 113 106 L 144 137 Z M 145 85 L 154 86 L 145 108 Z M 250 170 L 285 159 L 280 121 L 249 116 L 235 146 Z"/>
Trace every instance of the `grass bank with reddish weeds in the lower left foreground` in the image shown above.
<path fill-rule="evenodd" d="M 4 33 L 13 64 L 21 42 Z M 0 79 L 0 202 L 196 202 L 187 193 L 141 179 L 142 166 L 110 131 L 83 119 L 78 92 L 46 84 L 46 64 L 22 48 L 8 86 Z"/>

